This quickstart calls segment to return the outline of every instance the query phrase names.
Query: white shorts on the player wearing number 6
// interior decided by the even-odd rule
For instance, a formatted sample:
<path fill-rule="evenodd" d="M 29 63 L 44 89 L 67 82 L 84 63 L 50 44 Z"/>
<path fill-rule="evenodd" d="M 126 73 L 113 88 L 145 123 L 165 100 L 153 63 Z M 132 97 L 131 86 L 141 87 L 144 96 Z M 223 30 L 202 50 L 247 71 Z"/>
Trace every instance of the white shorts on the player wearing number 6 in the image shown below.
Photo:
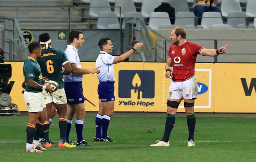
<path fill-rule="evenodd" d="M 66 97 L 64 88 L 58 89 L 55 92 L 52 92 L 52 94 L 43 90 L 43 94 L 44 94 L 45 104 L 48 104 L 51 102 L 54 102 L 57 104 L 66 104 L 67 103 L 67 97 Z"/>

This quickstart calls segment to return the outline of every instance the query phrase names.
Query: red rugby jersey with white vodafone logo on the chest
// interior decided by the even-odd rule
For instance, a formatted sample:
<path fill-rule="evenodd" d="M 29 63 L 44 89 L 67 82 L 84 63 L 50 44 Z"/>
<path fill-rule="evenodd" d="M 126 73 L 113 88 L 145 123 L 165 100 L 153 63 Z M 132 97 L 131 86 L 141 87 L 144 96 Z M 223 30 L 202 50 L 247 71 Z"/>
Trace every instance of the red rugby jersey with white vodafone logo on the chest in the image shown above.
<path fill-rule="evenodd" d="M 195 74 L 196 57 L 203 48 L 190 41 L 170 46 L 168 58 L 172 59 L 172 80 L 182 82 Z"/>

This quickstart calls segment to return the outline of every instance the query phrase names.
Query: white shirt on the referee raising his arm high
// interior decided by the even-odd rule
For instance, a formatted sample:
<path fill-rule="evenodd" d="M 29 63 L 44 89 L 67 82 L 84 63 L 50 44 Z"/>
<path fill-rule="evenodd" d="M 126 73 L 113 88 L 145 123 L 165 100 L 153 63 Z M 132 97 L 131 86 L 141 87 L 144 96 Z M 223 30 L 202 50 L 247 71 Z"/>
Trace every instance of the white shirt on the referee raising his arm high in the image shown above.
<path fill-rule="evenodd" d="M 98 74 L 99 82 L 115 82 L 114 78 L 114 56 L 100 51 L 98 58 L 96 59 L 96 67 L 101 66 L 100 73 Z"/>

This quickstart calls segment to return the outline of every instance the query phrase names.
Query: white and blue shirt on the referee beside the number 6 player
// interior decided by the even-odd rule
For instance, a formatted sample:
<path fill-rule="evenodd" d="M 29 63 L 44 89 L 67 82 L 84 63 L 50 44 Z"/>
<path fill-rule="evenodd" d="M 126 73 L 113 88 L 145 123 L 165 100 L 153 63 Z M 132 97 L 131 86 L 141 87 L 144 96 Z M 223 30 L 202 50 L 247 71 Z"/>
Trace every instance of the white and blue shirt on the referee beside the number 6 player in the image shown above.
<path fill-rule="evenodd" d="M 74 46 L 68 45 L 64 52 L 66 53 L 66 56 L 70 64 L 76 64 L 78 68 L 81 68 L 81 63 L 77 51 L 78 49 L 76 49 Z M 63 78 L 64 82 L 82 82 L 83 75 L 73 74 L 71 72 L 68 75 L 63 75 Z"/>

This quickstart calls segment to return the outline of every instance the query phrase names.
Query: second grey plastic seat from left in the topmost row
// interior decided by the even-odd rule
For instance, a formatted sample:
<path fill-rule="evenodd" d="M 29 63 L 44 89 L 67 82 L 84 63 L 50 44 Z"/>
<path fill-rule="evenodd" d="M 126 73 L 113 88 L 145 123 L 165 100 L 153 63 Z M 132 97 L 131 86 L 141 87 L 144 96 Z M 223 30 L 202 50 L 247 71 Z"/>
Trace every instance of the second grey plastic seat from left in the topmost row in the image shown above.
<path fill-rule="evenodd" d="M 121 15 L 118 7 L 121 7 Z M 116 0 L 114 12 L 118 17 L 124 18 L 124 13 L 136 12 L 136 8 L 132 0 Z"/>

